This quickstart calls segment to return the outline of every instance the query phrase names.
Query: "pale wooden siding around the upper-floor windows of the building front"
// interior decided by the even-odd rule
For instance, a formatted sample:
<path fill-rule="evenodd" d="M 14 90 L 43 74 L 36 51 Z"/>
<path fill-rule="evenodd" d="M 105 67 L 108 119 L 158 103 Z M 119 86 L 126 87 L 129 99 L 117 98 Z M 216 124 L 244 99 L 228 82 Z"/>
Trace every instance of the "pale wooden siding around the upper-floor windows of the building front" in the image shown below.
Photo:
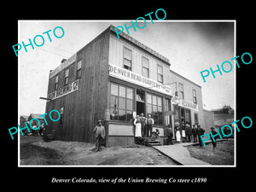
<path fill-rule="evenodd" d="M 196 91 L 198 112 L 191 110 L 191 120 L 192 125 L 195 124 L 195 113 L 198 113 L 199 124 L 202 127 L 205 126 L 204 113 L 203 113 L 203 103 L 201 96 L 201 86 L 193 83 L 189 79 L 185 79 L 181 75 L 172 72 L 170 66 L 166 62 L 154 57 L 154 55 L 149 54 L 146 50 L 138 48 L 136 45 L 125 41 L 122 38 L 117 38 L 116 35 L 110 34 L 110 44 L 109 44 L 109 63 L 116 65 L 118 67 L 123 67 L 123 49 L 127 47 L 132 51 L 132 64 L 131 71 L 142 75 L 142 57 L 145 56 L 149 60 L 149 79 L 157 81 L 157 65 L 163 67 L 163 84 L 169 84 L 172 89 L 172 96 L 175 95 L 177 82 L 183 84 L 184 99 L 193 102 L 192 90 Z"/>

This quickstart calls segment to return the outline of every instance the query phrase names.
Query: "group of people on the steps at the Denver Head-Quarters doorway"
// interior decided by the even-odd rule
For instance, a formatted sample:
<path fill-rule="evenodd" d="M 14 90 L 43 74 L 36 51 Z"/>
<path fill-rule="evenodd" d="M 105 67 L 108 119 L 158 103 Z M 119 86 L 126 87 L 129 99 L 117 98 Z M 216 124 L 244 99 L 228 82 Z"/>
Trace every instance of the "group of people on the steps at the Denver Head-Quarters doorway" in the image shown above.
<path fill-rule="evenodd" d="M 141 113 L 141 115 L 137 115 L 135 119 L 131 119 L 131 122 L 135 125 L 135 137 L 152 137 L 154 119 L 151 118 L 151 114 L 148 114 L 148 118 L 146 118 L 144 114 Z"/>

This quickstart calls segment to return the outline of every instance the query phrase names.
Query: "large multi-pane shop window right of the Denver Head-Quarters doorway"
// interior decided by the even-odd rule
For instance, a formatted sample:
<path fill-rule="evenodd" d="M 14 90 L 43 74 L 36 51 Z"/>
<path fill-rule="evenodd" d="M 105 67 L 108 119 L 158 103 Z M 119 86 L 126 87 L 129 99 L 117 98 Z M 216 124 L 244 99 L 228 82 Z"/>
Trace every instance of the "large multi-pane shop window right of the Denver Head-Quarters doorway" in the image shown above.
<path fill-rule="evenodd" d="M 163 125 L 162 97 L 147 94 L 147 113 L 152 114 L 154 124 Z"/>

